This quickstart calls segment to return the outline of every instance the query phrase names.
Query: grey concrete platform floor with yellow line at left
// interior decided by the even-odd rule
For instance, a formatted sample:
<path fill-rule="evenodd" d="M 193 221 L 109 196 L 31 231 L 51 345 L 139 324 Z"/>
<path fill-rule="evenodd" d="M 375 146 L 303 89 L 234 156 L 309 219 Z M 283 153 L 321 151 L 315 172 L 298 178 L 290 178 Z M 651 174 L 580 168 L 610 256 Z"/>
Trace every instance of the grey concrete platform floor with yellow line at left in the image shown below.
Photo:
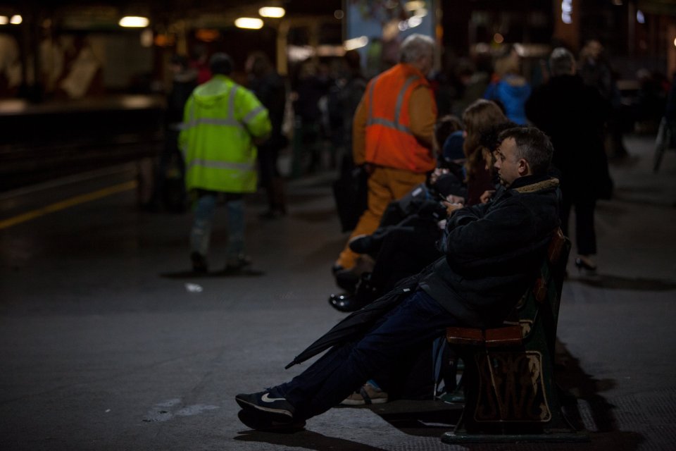
<path fill-rule="evenodd" d="M 290 214 L 277 221 L 258 219 L 261 194 L 249 200 L 262 274 L 196 278 L 185 274 L 189 214 L 135 209 L 122 167 L 0 194 L 0 449 L 676 449 L 676 153 L 653 174 L 652 138 L 626 145 L 615 197 L 597 209 L 600 276 L 570 264 L 558 327 L 560 375 L 589 443 L 445 445 L 459 411 L 433 401 L 250 431 L 234 395 L 301 371 L 283 368 L 344 316 L 327 304 L 346 240 L 335 175 L 289 183 Z M 225 264 L 224 215 L 213 268 Z"/>

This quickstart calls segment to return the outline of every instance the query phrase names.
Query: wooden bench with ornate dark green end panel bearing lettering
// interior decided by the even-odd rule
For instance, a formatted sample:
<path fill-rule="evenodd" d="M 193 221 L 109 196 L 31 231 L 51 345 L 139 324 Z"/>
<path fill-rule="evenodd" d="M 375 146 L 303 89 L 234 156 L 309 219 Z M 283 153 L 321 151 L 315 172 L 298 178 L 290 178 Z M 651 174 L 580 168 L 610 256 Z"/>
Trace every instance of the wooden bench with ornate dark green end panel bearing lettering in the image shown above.
<path fill-rule="evenodd" d="M 570 241 L 556 230 L 540 276 L 504 326 L 448 328 L 465 362 L 465 407 L 444 443 L 587 441 L 561 412 L 554 344 Z"/>

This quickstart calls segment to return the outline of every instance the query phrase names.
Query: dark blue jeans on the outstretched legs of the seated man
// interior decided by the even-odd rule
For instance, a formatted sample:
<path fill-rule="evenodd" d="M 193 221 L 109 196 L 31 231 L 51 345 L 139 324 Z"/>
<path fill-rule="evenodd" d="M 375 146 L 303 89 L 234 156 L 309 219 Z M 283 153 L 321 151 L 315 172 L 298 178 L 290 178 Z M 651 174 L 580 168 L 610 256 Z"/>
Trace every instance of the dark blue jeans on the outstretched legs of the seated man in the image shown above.
<path fill-rule="evenodd" d="M 430 295 L 418 290 L 375 323 L 361 340 L 333 347 L 292 381 L 275 387 L 308 419 L 336 406 L 399 357 L 423 350 L 446 327 L 461 323 Z"/>

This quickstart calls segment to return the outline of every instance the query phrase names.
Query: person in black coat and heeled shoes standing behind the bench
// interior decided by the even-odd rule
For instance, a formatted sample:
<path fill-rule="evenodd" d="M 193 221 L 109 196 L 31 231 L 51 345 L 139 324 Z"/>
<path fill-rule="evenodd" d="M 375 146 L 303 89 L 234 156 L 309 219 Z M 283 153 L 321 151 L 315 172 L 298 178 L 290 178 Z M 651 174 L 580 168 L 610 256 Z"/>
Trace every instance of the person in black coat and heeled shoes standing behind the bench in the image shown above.
<path fill-rule="evenodd" d="M 570 209 L 575 206 L 575 242 L 580 271 L 596 271 L 594 209 L 608 198 L 612 182 L 603 147 L 603 125 L 611 105 L 575 75 L 575 58 L 559 47 L 549 58 L 551 79 L 526 103 L 532 123 L 551 137 L 553 166 L 561 171 L 561 229 L 568 235 Z"/>

